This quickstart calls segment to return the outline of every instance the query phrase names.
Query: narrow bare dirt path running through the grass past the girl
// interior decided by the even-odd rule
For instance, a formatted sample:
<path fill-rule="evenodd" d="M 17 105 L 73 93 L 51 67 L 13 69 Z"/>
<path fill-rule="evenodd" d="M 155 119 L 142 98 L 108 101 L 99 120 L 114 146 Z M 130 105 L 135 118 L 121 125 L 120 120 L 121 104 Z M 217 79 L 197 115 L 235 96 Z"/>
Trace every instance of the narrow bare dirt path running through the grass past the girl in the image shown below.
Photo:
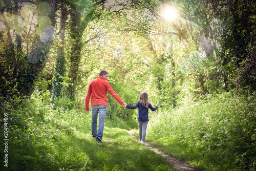
<path fill-rule="evenodd" d="M 137 138 L 136 136 L 134 136 L 131 131 L 127 131 L 128 134 L 135 138 L 137 141 L 139 141 L 139 138 Z M 197 171 L 194 168 L 189 167 L 185 162 L 179 161 L 176 158 L 173 158 L 169 155 L 166 155 L 165 153 L 161 152 L 159 149 L 154 148 L 153 145 L 151 145 L 149 142 L 144 142 L 144 145 L 148 148 L 150 148 L 153 152 L 155 152 L 156 154 L 164 157 L 170 164 L 174 165 L 174 168 L 178 169 L 178 170 L 184 170 L 184 171 Z"/>

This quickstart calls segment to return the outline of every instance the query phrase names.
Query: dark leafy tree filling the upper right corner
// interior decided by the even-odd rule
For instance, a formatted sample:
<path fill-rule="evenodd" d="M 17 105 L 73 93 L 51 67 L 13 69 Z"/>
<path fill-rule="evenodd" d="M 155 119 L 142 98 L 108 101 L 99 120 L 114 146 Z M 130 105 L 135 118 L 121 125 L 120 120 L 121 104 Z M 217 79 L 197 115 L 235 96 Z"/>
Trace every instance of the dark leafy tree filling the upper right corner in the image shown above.
<path fill-rule="evenodd" d="M 214 81 L 215 87 L 224 85 L 225 91 L 232 89 L 236 70 L 242 67 L 241 62 L 247 56 L 248 36 L 254 30 L 255 2 L 184 2 L 183 16 L 200 27 L 200 34 L 206 40 L 202 48 L 208 60 L 216 66 L 213 70 L 207 67 L 206 81 Z"/>

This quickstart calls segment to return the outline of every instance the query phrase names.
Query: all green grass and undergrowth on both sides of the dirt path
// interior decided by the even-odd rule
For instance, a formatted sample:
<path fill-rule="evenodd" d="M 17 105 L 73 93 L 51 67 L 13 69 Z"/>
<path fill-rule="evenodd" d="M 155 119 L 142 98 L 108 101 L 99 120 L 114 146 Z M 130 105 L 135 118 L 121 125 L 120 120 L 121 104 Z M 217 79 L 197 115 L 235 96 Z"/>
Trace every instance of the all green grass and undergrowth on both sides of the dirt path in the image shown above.
<path fill-rule="evenodd" d="M 198 170 L 255 170 L 255 96 L 223 93 L 174 110 L 160 108 L 150 115 L 145 140 Z M 5 104 L 8 167 L 1 161 L 1 170 L 175 170 L 129 136 L 127 130 L 138 136 L 136 120 L 107 116 L 103 143 L 97 143 L 91 114 L 67 110 L 64 103 L 54 110 L 49 97 L 34 92 Z"/>

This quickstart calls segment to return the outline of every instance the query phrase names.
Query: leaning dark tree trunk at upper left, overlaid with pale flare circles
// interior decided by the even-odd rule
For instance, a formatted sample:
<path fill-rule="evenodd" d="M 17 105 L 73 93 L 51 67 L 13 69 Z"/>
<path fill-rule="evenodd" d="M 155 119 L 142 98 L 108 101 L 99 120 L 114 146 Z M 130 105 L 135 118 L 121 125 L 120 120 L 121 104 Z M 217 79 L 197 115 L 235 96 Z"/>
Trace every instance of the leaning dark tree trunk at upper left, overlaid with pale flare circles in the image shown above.
<path fill-rule="evenodd" d="M 55 33 L 57 4 L 54 0 L 46 0 L 36 3 L 37 34 L 34 38 L 34 46 L 27 54 L 29 67 L 22 70 L 17 76 L 17 90 L 30 94 L 33 90 L 33 83 L 38 74 L 44 68 L 49 52 L 52 47 Z"/>

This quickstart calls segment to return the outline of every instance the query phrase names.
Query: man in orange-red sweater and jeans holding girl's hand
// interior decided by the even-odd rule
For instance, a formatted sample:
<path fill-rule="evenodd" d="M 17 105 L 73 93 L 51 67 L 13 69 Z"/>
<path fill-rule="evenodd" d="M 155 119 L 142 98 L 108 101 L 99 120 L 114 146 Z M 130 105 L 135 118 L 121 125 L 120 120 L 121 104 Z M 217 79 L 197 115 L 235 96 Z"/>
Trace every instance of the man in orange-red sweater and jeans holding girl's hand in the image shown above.
<path fill-rule="evenodd" d="M 108 98 L 106 97 L 109 92 L 124 108 L 126 103 L 117 95 L 112 89 L 108 80 L 109 73 L 102 70 L 99 76 L 92 80 L 89 84 L 88 92 L 86 95 L 86 112 L 89 113 L 89 102 L 91 97 L 92 105 L 92 136 L 97 142 L 102 143 L 102 135 L 104 129 L 104 122 L 106 117 L 106 110 L 108 110 Z M 108 91 L 108 92 L 107 92 Z M 99 125 L 97 131 L 97 119 L 99 114 Z"/>

